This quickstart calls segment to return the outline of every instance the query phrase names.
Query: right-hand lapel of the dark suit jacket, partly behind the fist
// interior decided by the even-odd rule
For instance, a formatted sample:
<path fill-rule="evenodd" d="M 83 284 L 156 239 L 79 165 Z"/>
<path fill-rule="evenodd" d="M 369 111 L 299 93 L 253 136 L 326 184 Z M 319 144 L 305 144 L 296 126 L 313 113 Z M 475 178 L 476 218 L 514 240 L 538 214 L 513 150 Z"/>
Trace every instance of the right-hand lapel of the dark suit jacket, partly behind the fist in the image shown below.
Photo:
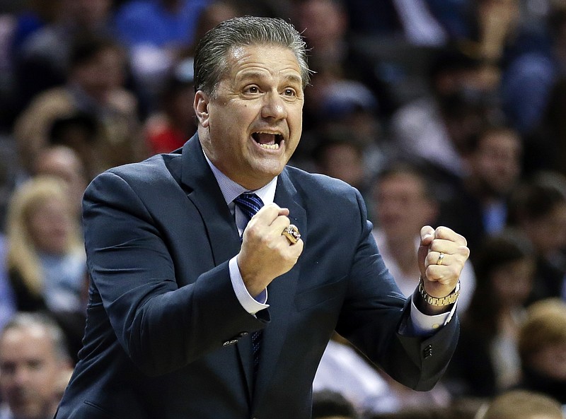
<path fill-rule="evenodd" d="M 287 170 L 284 170 L 282 174 L 279 175 L 277 190 L 275 191 L 275 203 L 281 207 L 289 208 L 291 224 L 299 228 L 301 239 L 304 241 L 306 247 L 306 211 L 302 206 L 291 179 L 289 179 Z M 296 293 L 296 285 L 299 281 L 300 261 L 301 258 L 299 256 L 299 263 L 291 268 L 289 272 L 275 278 L 267 287 L 267 302 L 270 305 L 271 322 L 263 331 L 260 365 L 253 396 L 254 404 L 257 404 L 258 400 L 262 398 L 272 377 L 276 375 L 275 369 L 285 339 L 287 338 L 287 327 L 289 326 L 291 311 L 294 309 L 294 296 Z"/>

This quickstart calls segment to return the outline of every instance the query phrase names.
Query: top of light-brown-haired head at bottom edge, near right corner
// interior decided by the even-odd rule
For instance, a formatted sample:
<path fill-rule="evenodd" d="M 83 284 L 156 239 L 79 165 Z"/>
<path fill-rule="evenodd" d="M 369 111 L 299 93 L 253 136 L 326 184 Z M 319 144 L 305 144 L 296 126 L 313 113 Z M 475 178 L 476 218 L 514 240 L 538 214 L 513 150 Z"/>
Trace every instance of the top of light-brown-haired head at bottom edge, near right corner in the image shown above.
<path fill-rule="evenodd" d="M 489 403 L 478 419 L 563 419 L 560 403 L 533 391 L 507 391 Z"/>

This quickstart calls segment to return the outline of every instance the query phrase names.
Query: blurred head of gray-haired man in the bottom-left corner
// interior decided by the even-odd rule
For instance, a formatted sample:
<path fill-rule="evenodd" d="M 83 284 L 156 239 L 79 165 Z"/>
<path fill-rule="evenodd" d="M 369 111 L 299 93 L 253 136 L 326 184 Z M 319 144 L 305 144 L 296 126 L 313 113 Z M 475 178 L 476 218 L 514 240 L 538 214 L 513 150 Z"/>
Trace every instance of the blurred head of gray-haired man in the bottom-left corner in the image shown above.
<path fill-rule="evenodd" d="M 59 326 L 43 314 L 16 314 L 0 336 L 0 418 L 52 418 L 70 374 Z"/>

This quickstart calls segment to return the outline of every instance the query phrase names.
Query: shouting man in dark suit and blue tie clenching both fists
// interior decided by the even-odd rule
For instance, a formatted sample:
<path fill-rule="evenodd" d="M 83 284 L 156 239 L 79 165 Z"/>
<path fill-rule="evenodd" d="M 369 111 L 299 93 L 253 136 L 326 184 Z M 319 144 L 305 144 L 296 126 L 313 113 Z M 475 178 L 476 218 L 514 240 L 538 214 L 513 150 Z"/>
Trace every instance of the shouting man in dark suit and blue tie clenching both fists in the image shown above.
<path fill-rule="evenodd" d="M 291 25 L 227 20 L 195 52 L 197 135 L 87 188 L 85 346 L 57 419 L 310 418 L 334 329 L 409 386 L 439 379 L 456 344 L 451 305 L 416 298 L 444 313 L 432 319 L 403 309 L 359 193 L 286 166 L 306 83 Z M 245 191 L 265 203 L 247 227 L 261 203 Z M 463 237 L 424 228 L 420 254 L 423 295 L 453 302 Z M 432 334 L 423 317 L 446 325 L 417 336 Z"/>

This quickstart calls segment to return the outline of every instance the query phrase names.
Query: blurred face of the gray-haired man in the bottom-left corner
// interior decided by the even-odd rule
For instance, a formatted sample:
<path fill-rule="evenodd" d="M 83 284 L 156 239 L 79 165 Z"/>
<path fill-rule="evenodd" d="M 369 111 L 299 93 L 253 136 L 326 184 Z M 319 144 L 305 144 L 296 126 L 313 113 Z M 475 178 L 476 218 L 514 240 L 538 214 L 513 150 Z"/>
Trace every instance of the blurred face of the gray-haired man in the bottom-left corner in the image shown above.
<path fill-rule="evenodd" d="M 54 415 L 62 362 L 39 326 L 8 329 L 0 341 L 0 389 L 18 418 Z"/>

